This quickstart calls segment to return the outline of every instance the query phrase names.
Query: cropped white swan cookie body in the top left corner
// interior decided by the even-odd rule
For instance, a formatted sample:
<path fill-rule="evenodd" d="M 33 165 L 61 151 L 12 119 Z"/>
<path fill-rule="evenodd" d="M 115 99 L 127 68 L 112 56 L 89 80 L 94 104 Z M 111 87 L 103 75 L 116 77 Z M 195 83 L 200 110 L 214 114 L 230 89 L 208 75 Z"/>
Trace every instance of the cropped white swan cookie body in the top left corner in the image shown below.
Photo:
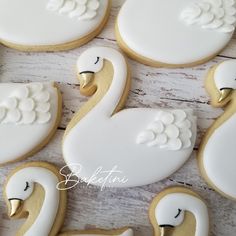
<path fill-rule="evenodd" d="M 99 34 L 109 9 L 110 0 L 0 0 L 0 43 L 26 51 L 79 47 Z"/>

